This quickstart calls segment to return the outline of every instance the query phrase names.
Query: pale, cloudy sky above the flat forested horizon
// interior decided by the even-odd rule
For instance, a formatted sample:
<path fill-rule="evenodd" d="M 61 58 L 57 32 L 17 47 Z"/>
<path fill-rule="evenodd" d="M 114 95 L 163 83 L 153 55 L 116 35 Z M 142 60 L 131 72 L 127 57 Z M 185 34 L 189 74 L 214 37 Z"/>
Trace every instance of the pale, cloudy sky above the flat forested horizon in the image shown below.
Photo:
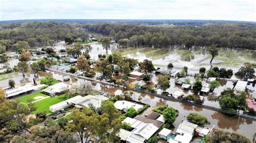
<path fill-rule="evenodd" d="M 0 20 L 201 19 L 256 21 L 255 0 L 0 0 Z"/>

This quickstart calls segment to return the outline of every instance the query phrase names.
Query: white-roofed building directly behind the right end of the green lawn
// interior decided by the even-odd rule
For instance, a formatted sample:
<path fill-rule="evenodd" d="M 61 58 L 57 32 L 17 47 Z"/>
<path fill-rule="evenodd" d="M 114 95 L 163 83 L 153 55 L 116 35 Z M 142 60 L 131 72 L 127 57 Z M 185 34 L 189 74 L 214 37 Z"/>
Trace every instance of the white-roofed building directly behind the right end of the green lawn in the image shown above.
<path fill-rule="evenodd" d="M 55 96 L 58 94 L 63 94 L 65 91 L 69 90 L 70 87 L 70 84 L 59 82 L 43 89 L 42 91 L 45 92 L 45 94 Z"/>

